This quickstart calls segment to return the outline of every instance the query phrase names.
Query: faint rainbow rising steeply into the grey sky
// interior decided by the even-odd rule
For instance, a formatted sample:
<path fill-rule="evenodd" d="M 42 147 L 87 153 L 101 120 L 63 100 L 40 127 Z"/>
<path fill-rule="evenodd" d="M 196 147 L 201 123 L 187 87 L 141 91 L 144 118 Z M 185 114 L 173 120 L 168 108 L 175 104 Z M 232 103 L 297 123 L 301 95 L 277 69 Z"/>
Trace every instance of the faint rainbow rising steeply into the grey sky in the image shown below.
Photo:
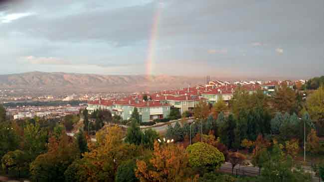
<path fill-rule="evenodd" d="M 153 75 L 154 57 L 155 57 L 156 41 L 158 40 L 158 36 L 159 36 L 159 23 L 160 23 L 161 11 L 162 11 L 162 3 L 159 3 L 157 11 L 155 12 L 155 15 L 153 17 L 153 25 L 152 25 L 151 36 L 148 45 L 148 56 L 146 60 L 146 75 L 149 79 Z"/>

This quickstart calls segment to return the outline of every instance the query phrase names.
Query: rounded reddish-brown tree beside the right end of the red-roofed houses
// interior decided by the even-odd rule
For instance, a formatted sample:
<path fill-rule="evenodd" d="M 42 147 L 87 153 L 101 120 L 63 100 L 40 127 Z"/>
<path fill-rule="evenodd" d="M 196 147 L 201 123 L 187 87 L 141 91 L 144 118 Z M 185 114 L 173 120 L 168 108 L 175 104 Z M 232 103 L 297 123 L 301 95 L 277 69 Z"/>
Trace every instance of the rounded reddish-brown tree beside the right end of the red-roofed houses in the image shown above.
<path fill-rule="evenodd" d="M 272 102 L 278 112 L 292 114 L 297 111 L 296 92 L 287 87 L 286 84 L 281 85 L 276 90 Z"/>

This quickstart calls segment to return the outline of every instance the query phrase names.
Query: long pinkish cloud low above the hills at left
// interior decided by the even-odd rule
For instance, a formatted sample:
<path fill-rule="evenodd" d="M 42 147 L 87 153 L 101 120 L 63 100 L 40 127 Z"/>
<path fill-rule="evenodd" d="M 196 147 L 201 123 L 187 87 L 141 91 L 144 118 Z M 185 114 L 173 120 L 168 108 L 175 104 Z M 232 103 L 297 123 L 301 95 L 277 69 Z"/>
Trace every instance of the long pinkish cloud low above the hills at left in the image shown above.
<path fill-rule="evenodd" d="M 33 65 L 69 65 L 70 63 L 54 57 L 26 56 L 23 60 Z"/>

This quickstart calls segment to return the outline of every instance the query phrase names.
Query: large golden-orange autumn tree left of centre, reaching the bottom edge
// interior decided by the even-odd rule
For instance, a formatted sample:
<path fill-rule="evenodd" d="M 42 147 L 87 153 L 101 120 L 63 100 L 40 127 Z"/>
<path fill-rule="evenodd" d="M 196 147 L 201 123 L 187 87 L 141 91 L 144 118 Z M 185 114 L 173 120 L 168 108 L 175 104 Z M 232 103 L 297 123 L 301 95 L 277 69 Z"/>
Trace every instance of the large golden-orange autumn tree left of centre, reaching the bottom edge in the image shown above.
<path fill-rule="evenodd" d="M 138 148 L 123 142 L 125 133 L 119 126 L 107 127 L 96 133 L 97 142 L 83 154 L 78 174 L 82 182 L 113 182 L 118 166 L 136 158 Z"/>

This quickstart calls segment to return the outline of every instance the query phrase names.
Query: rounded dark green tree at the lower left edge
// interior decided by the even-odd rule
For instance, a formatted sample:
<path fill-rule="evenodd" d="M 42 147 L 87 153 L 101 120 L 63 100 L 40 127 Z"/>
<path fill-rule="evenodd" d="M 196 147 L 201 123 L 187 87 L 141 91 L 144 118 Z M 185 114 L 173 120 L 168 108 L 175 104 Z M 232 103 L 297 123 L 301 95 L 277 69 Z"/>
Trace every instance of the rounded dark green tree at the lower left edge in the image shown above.
<path fill-rule="evenodd" d="M 28 175 L 27 155 L 21 150 L 10 151 L 2 157 L 1 165 L 6 174 L 14 174 L 14 177 L 26 177 Z"/>

